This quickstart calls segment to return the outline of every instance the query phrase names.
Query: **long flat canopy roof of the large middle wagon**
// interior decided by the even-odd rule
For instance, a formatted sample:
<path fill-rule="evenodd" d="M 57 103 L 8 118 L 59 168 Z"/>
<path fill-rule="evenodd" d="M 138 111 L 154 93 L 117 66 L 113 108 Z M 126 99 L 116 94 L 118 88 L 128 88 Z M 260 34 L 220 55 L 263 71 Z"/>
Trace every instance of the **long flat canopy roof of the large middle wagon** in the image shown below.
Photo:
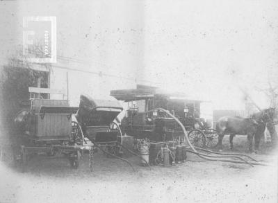
<path fill-rule="evenodd" d="M 110 95 L 115 97 L 117 100 L 124 100 L 126 102 L 154 98 L 155 96 L 163 96 L 172 100 L 190 100 L 202 102 L 202 100 L 189 98 L 188 96 L 179 92 L 170 92 L 158 88 L 117 89 L 111 90 Z"/>

